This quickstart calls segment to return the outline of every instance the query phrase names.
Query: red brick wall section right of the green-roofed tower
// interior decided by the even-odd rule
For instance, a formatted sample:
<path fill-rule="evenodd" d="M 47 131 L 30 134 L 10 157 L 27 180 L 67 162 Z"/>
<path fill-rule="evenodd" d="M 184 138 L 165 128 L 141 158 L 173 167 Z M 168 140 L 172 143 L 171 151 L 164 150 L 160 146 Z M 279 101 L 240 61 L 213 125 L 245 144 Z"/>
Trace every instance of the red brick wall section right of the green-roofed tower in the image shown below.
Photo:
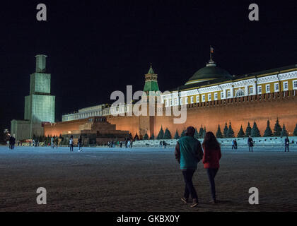
<path fill-rule="evenodd" d="M 206 131 L 213 131 L 216 134 L 218 125 L 221 126 L 223 133 L 225 123 L 227 122 L 229 126 L 229 121 L 231 121 L 232 129 L 237 136 L 241 125 L 245 131 L 248 121 L 251 127 L 256 121 L 263 136 L 267 127 L 267 119 L 273 131 L 278 117 L 281 127 L 285 124 L 287 131 L 293 133 L 297 123 L 296 94 L 294 91 L 286 91 L 191 104 L 187 108 L 185 124 L 173 124 L 173 117 L 156 117 L 154 131 L 158 133 L 162 125 L 163 129 L 168 127 L 171 135 L 174 136 L 176 129 L 180 134 L 187 126 L 194 126 L 199 130 L 202 125 L 206 126 Z"/>

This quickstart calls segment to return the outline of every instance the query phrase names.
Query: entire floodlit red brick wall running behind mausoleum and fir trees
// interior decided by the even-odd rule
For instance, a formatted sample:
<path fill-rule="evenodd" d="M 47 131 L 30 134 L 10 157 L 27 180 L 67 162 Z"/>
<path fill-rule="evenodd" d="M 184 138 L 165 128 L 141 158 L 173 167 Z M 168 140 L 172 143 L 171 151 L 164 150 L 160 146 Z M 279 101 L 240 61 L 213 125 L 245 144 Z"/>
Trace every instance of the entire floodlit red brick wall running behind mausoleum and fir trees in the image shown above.
<path fill-rule="evenodd" d="M 187 121 L 185 124 L 173 124 L 174 117 L 107 117 L 107 121 L 116 124 L 117 130 L 130 131 L 133 136 L 139 134 L 139 130 L 144 134 L 147 131 L 148 136 L 153 132 L 155 137 L 163 126 L 168 128 L 172 136 L 177 129 L 180 134 L 187 126 L 194 126 L 197 129 L 202 125 L 206 126 L 206 131 L 216 133 L 218 125 L 223 127 L 225 123 L 231 125 L 235 136 L 243 125 L 245 131 L 248 121 L 252 127 L 256 121 L 260 129 L 261 136 L 267 126 L 267 119 L 270 120 L 270 127 L 273 131 L 276 118 L 279 118 L 281 126 L 285 124 L 289 133 L 293 130 L 297 123 L 297 97 L 296 90 L 285 91 L 281 93 L 269 93 L 262 95 L 252 95 L 248 97 L 235 97 L 226 100 L 215 100 L 211 102 L 201 102 L 190 104 L 187 106 Z M 165 109 L 163 109 L 165 112 Z M 164 113 L 165 114 L 165 113 Z M 75 122 L 65 121 L 57 124 L 57 126 L 45 126 L 45 135 L 62 133 L 61 131 L 71 131 L 78 129 L 79 124 L 85 123 L 87 119 L 76 120 Z"/>

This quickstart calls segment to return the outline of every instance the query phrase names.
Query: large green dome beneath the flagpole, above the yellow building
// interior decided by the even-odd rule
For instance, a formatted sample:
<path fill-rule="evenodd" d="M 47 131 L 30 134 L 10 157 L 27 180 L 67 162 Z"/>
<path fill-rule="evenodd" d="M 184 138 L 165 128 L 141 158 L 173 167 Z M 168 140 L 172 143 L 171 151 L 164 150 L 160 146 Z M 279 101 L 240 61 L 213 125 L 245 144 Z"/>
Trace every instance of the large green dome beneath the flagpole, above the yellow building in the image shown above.
<path fill-rule="evenodd" d="M 189 85 L 192 83 L 202 83 L 205 81 L 211 81 L 214 79 L 223 79 L 223 80 L 231 80 L 232 76 L 228 71 L 219 68 L 214 64 L 214 61 L 210 61 L 209 64 L 202 69 L 199 69 L 194 75 L 185 83 L 185 85 Z"/>

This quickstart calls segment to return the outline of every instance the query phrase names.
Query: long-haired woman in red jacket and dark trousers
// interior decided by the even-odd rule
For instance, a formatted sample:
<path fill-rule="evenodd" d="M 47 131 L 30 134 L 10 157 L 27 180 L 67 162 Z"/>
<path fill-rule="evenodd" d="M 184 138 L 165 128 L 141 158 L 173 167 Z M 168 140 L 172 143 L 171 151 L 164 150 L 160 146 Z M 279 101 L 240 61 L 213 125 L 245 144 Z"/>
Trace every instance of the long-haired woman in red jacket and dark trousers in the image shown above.
<path fill-rule="evenodd" d="M 219 160 L 221 159 L 222 155 L 220 144 L 216 140 L 214 133 L 207 132 L 205 134 L 202 147 L 204 150 L 202 162 L 204 164 L 204 168 L 207 171 L 207 175 L 209 176 L 209 183 L 211 186 L 211 203 L 216 203 L 216 186 L 214 184 L 214 177 L 216 177 L 216 173 L 219 170 Z"/>

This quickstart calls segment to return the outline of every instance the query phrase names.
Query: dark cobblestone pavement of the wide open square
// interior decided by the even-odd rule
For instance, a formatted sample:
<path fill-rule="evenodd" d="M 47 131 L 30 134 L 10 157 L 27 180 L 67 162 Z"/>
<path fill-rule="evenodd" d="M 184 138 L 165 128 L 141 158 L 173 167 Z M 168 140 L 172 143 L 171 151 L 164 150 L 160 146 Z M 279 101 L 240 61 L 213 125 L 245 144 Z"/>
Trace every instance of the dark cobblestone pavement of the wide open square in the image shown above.
<path fill-rule="evenodd" d="M 74 148 L 76 150 L 77 148 Z M 264 151 L 266 150 L 266 151 Z M 282 150 L 282 148 L 281 148 Z M 173 148 L 0 147 L 0 211 L 296 211 L 297 150 L 222 150 L 216 176 L 219 201 L 209 204 L 209 182 L 199 162 L 194 186 L 199 206 L 180 201 L 184 182 Z M 47 189 L 47 205 L 36 190 Z M 260 204 L 248 204 L 248 189 Z"/>

